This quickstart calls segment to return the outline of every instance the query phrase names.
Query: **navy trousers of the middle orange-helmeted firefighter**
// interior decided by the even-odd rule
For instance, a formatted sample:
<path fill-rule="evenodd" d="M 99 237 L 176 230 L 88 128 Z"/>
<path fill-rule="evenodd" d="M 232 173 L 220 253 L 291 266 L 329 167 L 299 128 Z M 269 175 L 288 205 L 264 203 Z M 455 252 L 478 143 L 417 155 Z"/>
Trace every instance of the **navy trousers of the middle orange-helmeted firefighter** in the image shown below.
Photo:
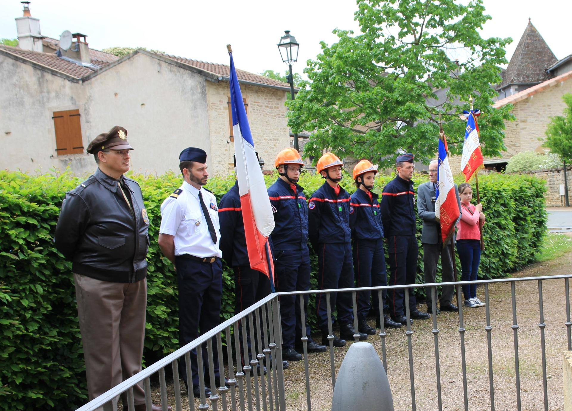
<path fill-rule="evenodd" d="M 318 287 L 320 290 L 353 288 L 352 246 L 351 243 L 318 244 Z M 337 309 L 337 322 L 340 325 L 353 321 L 351 293 L 331 293 L 330 307 Z M 325 294 L 316 295 L 318 327 L 328 331 L 328 308 Z M 334 317 L 332 314 L 332 323 Z"/>

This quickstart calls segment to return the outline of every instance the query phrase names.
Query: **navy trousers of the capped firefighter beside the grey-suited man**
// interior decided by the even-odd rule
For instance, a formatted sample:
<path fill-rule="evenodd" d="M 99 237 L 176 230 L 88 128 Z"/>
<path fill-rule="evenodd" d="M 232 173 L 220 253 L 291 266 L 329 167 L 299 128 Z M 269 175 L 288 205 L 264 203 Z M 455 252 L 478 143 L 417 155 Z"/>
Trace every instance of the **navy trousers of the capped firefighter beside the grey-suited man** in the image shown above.
<path fill-rule="evenodd" d="M 390 263 L 390 286 L 415 284 L 419 246 L 415 235 L 393 235 L 388 238 Z M 388 293 L 388 303 L 392 317 L 405 315 L 403 302 L 404 289 L 393 289 Z M 409 289 L 409 309 L 417 309 L 413 289 Z"/>

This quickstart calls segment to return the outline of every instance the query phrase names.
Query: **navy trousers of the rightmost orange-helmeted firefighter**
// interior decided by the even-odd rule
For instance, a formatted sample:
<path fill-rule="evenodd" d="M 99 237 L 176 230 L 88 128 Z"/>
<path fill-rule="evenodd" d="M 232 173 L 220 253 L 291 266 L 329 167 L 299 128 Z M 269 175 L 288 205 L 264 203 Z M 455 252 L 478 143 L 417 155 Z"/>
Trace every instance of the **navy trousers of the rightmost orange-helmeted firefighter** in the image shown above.
<path fill-rule="evenodd" d="M 355 240 L 353 242 L 353 273 L 356 287 L 387 286 L 386 258 L 383 253 L 383 238 L 378 240 Z M 358 301 L 358 319 L 366 319 L 370 311 L 371 291 L 356 292 Z M 374 307 L 379 307 L 376 291 L 373 296 Z M 389 314 L 387 291 L 383 290 L 383 313 Z M 379 311 L 376 311 L 379 315 Z"/>

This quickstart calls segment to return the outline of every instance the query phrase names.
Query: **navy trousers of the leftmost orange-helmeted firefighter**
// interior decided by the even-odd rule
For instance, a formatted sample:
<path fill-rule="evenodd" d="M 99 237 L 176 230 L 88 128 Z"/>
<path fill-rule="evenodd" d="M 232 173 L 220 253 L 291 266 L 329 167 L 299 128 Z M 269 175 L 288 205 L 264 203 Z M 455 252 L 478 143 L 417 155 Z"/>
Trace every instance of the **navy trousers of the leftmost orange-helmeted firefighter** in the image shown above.
<path fill-rule="evenodd" d="M 303 250 L 275 251 L 274 271 L 276 291 L 307 291 L 310 289 L 310 255 L 308 247 Z M 304 295 L 304 314 L 308 318 L 308 294 Z M 282 346 L 295 347 L 301 344 L 302 319 L 299 295 L 280 296 L 280 318 L 282 321 Z M 312 341 L 310 326 L 306 324 L 308 342 Z"/>

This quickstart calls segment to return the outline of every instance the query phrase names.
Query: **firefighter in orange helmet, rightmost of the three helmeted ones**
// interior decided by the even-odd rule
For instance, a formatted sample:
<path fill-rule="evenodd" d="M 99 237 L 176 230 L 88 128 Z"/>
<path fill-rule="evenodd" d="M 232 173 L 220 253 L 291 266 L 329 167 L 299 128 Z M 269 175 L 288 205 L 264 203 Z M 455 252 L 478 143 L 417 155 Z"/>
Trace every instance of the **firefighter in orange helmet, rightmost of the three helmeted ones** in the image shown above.
<path fill-rule="evenodd" d="M 369 160 L 362 160 L 353 168 L 353 181 L 358 189 L 349 203 L 349 226 L 352 229 L 353 273 L 356 287 L 387 286 L 386 259 L 383 251 L 383 224 L 379 212 L 378 195 L 374 188 L 378 167 Z M 370 311 L 370 291 L 356 293 L 358 303 L 358 327 L 360 333 L 375 334 L 366 317 Z M 388 313 L 387 291 L 382 293 L 383 319 L 386 327 L 399 328 L 401 323 L 393 321 Z M 373 296 L 379 323 L 379 298 Z M 378 325 L 379 327 L 379 325 Z"/>

